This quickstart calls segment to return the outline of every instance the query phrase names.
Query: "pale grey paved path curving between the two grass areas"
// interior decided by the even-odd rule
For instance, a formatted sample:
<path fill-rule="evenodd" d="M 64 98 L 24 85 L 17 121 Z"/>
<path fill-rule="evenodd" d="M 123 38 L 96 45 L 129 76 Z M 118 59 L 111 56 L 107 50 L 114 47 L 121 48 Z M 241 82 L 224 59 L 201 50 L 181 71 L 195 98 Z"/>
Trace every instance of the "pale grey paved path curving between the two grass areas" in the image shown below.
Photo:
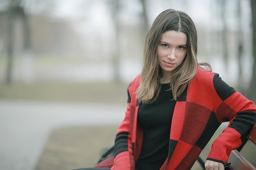
<path fill-rule="evenodd" d="M 126 106 L 0 100 L 0 169 L 33 170 L 52 130 L 119 124 Z"/>

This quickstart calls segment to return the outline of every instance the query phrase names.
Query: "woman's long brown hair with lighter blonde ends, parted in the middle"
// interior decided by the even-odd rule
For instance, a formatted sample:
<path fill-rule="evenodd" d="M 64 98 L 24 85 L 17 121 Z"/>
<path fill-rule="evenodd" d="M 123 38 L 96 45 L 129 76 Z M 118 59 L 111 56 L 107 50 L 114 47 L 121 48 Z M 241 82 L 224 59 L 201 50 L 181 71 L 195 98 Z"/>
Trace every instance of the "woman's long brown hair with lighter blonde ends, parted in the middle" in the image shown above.
<path fill-rule="evenodd" d="M 162 71 L 157 62 L 157 46 L 162 33 L 171 30 L 185 33 L 187 36 L 186 57 L 182 64 L 172 71 L 170 77 L 173 99 L 177 100 L 184 92 L 190 80 L 196 75 L 198 65 L 206 65 L 211 70 L 209 64 L 197 61 L 197 31 L 193 20 L 182 11 L 167 9 L 157 16 L 146 35 L 141 83 L 136 91 L 137 99 L 143 104 L 155 101 L 159 95 L 159 78 Z"/>

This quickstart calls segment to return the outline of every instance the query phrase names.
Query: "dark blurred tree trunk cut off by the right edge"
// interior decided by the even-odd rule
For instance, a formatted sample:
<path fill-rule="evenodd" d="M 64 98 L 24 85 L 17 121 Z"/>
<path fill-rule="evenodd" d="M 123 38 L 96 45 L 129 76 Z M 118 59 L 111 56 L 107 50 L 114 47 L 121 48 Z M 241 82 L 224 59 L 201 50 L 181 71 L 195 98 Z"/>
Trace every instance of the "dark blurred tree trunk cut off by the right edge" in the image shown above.
<path fill-rule="evenodd" d="M 254 59 L 253 62 L 253 72 L 252 80 L 247 91 L 247 97 L 254 102 L 256 102 L 256 0 L 251 0 L 252 8 L 252 56 Z"/>

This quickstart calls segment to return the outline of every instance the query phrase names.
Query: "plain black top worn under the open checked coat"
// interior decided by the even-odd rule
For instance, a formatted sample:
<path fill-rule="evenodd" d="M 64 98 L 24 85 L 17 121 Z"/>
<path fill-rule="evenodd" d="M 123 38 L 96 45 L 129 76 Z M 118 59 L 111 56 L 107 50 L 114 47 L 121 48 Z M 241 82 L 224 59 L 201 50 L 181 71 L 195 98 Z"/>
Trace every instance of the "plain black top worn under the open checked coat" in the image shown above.
<path fill-rule="evenodd" d="M 143 128 L 141 153 L 135 170 L 159 170 L 168 156 L 171 120 L 175 101 L 169 84 L 161 84 L 157 99 L 150 104 L 140 104 L 138 123 Z"/>

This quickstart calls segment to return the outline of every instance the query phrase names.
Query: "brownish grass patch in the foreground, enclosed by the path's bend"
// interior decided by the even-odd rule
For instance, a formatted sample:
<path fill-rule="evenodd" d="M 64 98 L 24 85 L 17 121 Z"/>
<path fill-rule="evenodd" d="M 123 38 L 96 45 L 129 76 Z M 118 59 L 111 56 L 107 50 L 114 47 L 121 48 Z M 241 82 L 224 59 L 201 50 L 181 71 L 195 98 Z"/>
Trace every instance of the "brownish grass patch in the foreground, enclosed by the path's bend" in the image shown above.
<path fill-rule="evenodd" d="M 92 167 L 103 149 L 114 144 L 117 126 L 67 127 L 52 132 L 35 170 Z"/>

